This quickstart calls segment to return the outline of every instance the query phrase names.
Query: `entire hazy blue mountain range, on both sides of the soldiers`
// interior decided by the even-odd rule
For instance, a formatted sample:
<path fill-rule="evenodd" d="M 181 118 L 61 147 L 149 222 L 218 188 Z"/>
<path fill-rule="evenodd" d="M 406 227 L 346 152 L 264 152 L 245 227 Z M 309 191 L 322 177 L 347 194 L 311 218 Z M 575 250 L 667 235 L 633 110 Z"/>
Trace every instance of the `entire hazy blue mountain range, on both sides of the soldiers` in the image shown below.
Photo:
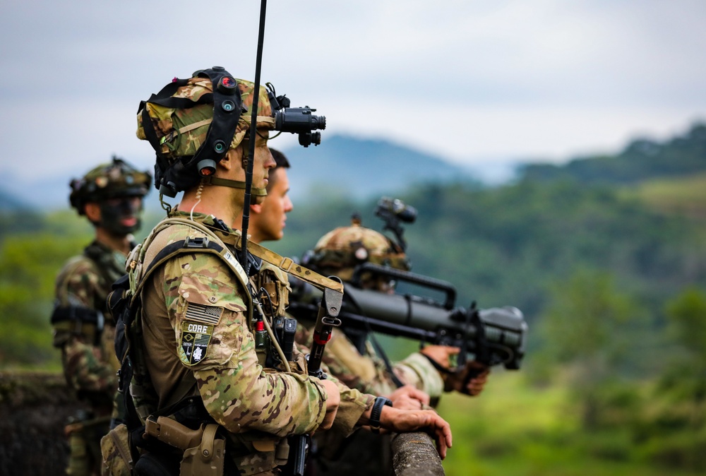
<path fill-rule="evenodd" d="M 282 150 L 290 162 L 292 197 L 301 199 L 325 192 L 326 196 L 369 198 L 396 194 L 413 184 L 477 182 L 496 185 L 507 182 L 515 174 L 515 164 L 487 162 L 481 165 L 453 165 L 443 157 L 419 152 L 388 141 L 325 136 L 321 145 L 303 148 L 299 145 Z M 5 209 L 29 206 L 40 210 L 68 208 L 69 177 L 18 179 L 0 174 L 0 192 Z M 145 202 L 148 210 L 162 213 L 152 189 Z M 174 200 L 169 200 L 175 203 Z"/>

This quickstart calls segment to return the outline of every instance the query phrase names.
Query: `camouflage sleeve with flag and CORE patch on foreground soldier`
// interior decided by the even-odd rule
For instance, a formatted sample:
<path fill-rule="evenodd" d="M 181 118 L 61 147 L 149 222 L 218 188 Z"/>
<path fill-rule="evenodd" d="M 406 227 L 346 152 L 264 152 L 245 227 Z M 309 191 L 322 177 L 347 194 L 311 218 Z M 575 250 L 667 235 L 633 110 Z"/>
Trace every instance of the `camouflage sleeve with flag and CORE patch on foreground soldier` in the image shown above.
<path fill-rule="evenodd" d="M 186 272 L 184 272 L 186 270 Z M 184 255 L 167 263 L 169 319 L 181 363 L 191 367 L 206 410 L 230 432 L 287 436 L 323 421 L 327 393 L 316 379 L 265 371 L 246 323 L 244 289 L 220 258 Z"/>

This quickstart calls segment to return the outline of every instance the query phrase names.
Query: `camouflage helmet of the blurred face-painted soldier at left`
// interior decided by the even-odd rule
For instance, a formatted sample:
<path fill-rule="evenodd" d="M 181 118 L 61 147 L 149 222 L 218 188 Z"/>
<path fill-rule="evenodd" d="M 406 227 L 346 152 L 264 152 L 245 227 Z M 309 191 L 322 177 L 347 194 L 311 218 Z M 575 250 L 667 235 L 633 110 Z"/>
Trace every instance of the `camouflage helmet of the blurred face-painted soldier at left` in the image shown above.
<path fill-rule="evenodd" d="M 113 156 L 112 162 L 91 169 L 80 179 L 69 183 L 71 206 L 85 215 L 85 204 L 124 196 L 143 197 L 150 190 L 150 172 L 140 172 L 127 162 Z"/>

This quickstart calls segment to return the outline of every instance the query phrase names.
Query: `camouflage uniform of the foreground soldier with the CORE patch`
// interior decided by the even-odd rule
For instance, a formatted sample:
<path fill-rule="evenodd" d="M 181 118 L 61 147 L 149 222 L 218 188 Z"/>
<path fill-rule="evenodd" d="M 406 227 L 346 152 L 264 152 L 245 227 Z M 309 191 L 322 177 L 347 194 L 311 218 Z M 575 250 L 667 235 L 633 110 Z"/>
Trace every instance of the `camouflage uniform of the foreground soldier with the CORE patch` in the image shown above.
<path fill-rule="evenodd" d="M 211 228 L 235 256 L 237 231 L 217 230 L 210 216 L 194 213 L 193 220 Z M 157 225 L 156 230 L 143 250 L 145 266 L 167 244 L 207 236 L 189 225 L 162 230 Z M 323 421 L 328 395 L 306 375 L 299 352 L 294 352 L 297 365 L 291 373 L 263 368 L 248 317 L 252 302 L 246 282 L 244 271 L 235 275 L 212 254 L 169 259 L 143 288 L 142 349 L 157 410 L 198 395 L 208 415 L 226 430 L 226 455 L 241 474 L 275 474 L 277 445 L 285 436 L 313 432 Z M 193 329 L 200 334 L 196 340 Z M 334 429 L 347 435 L 373 396 L 348 389 L 341 400 Z"/>

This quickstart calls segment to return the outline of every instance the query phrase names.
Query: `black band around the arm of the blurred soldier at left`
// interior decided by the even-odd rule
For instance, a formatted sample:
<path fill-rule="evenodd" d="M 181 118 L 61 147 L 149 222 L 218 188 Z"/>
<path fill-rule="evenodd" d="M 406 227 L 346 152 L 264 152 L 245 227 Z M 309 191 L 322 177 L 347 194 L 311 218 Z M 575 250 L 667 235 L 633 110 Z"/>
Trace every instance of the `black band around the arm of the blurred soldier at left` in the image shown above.
<path fill-rule="evenodd" d="M 68 340 L 80 335 L 87 343 L 97 344 L 103 331 L 103 315 L 95 309 L 69 305 L 57 306 L 52 312 L 54 347 L 63 347 Z"/>

